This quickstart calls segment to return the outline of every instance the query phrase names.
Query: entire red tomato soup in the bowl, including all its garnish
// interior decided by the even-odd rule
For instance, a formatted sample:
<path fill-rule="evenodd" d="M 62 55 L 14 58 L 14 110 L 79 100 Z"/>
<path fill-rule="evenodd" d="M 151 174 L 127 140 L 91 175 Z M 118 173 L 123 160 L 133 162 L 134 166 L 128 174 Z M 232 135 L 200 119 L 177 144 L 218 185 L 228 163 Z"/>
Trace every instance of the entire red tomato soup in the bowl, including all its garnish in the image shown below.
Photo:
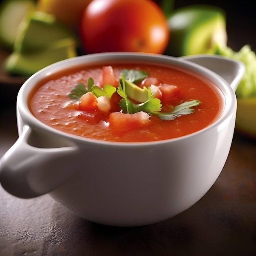
<path fill-rule="evenodd" d="M 220 89 L 203 76 L 148 63 L 74 67 L 46 77 L 29 97 L 48 126 L 122 142 L 191 134 L 218 119 L 223 105 Z"/>

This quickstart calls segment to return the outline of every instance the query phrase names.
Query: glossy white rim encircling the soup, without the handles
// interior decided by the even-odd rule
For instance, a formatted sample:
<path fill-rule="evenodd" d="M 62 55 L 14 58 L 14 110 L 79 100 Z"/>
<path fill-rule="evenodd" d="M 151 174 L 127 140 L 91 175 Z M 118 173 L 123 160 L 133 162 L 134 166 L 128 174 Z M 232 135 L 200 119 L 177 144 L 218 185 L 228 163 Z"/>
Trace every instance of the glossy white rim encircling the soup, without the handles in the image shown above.
<path fill-rule="evenodd" d="M 172 139 L 164 139 L 164 140 L 158 140 L 158 141 L 143 141 L 143 142 L 120 142 L 120 141 L 104 141 L 99 139 L 91 139 L 86 137 L 81 137 L 79 135 L 72 135 L 68 132 L 63 132 L 61 130 L 57 130 L 53 127 L 48 126 L 47 124 L 44 124 L 43 122 L 39 121 L 29 110 L 28 104 L 27 104 L 27 98 L 29 96 L 29 93 L 34 88 L 36 83 L 40 81 L 41 79 L 45 79 L 46 76 L 50 76 L 58 71 L 61 71 L 63 69 L 68 69 L 70 67 L 76 67 L 80 65 L 84 65 L 86 63 L 103 63 L 104 61 L 124 61 L 124 58 L 126 61 L 135 60 L 136 62 L 143 62 L 143 60 L 155 60 L 157 61 L 155 64 L 160 65 L 173 65 L 175 67 L 181 67 L 185 68 L 187 70 L 190 70 L 194 73 L 200 74 L 202 77 L 205 77 L 206 79 L 212 81 L 219 89 L 220 92 L 222 92 L 224 96 L 224 106 L 222 113 L 220 114 L 220 117 L 213 121 L 212 124 L 206 126 L 205 128 L 202 128 L 201 130 L 198 130 L 196 132 L 193 132 L 188 135 L 184 135 L 181 137 L 176 137 Z M 218 58 L 218 56 L 216 56 Z M 143 59 L 143 60 L 142 60 Z M 98 60 L 98 61 L 97 61 Z M 87 62 L 85 62 L 87 61 Z M 76 56 L 72 58 L 65 59 L 63 61 L 58 61 L 56 63 L 53 63 L 32 76 L 30 76 L 25 83 L 21 86 L 18 95 L 17 95 L 17 101 L 16 101 L 16 108 L 17 108 L 17 115 L 22 115 L 22 120 L 24 124 L 31 125 L 34 128 L 45 130 L 51 133 L 54 133 L 57 136 L 65 137 L 68 139 L 71 139 L 75 141 L 76 144 L 83 144 L 84 142 L 90 142 L 92 144 L 100 144 L 100 145 L 116 145 L 116 146 L 148 146 L 153 144 L 165 144 L 170 141 L 180 141 L 189 137 L 198 136 L 198 134 L 207 132 L 216 126 L 219 126 L 223 121 L 225 121 L 230 115 L 236 113 L 236 95 L 234 90 L 231 88 L 229 83 L 225 79 L 223 79 L 220 75 L 213 72 L 212 70 L 209 70 L 208 68 L 199 65 L 197 63 L 193 63 L 191 61 L 174 57 L 174 56 L 167 56 L 162 54 L 150 54 L 150 53 L 138 53 L 138 52 L 105 52 L 105 53 L 96 53 L 96 54 L 87 54 L 82 56 Z M 235 109 L 234 109 L 235 108 Z"/>

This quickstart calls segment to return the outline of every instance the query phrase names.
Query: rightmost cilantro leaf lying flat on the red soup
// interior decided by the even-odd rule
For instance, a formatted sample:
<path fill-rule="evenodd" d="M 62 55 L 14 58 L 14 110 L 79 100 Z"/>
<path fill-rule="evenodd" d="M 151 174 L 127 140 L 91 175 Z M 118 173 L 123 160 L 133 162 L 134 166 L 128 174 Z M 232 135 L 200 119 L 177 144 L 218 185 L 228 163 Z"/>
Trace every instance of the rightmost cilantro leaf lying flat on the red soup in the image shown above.
<path fill-rule="evenodd" d="M 171 112 L 159 112 L 157 113 L 157 115 L 162 120 L 173 120 L 181 115 L 189 115 L 195 112 L 195 110 L 191 107 L 198 106 L 199 104 L 200 101 L 197 99 L 193 101 L 186 101 L 181 103 L 180 105 L 175 106 Z"/>

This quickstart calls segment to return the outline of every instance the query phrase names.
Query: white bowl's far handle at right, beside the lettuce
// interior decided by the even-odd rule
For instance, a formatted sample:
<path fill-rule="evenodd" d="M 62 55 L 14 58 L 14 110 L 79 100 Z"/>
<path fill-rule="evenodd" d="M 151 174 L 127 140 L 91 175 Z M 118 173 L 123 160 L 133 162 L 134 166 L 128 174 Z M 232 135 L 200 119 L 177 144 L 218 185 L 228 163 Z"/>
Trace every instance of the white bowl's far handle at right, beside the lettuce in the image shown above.
<path fill-rule="evenodd" d="M 180 58 L 207 67 L 219 74 L 230 84 L 234 92 L 245 73 L 245 65 L 242 62 L 215 54 L 188 55 Z"/>

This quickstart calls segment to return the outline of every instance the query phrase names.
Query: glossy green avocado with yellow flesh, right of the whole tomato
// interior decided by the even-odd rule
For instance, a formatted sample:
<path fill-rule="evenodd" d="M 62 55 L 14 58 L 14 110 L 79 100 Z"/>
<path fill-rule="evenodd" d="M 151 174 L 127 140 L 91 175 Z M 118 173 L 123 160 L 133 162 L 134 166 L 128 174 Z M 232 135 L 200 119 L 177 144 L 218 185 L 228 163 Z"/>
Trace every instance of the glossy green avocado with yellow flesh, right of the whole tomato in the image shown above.
<path fill-rule="evenodd" d="M 175 9 L 168 17 L 168 26 L 171 34 L 167 55 L 211 53 L 215 43 L 227 45 L 225 12 L 212 5 L 194 4 Z"/>

